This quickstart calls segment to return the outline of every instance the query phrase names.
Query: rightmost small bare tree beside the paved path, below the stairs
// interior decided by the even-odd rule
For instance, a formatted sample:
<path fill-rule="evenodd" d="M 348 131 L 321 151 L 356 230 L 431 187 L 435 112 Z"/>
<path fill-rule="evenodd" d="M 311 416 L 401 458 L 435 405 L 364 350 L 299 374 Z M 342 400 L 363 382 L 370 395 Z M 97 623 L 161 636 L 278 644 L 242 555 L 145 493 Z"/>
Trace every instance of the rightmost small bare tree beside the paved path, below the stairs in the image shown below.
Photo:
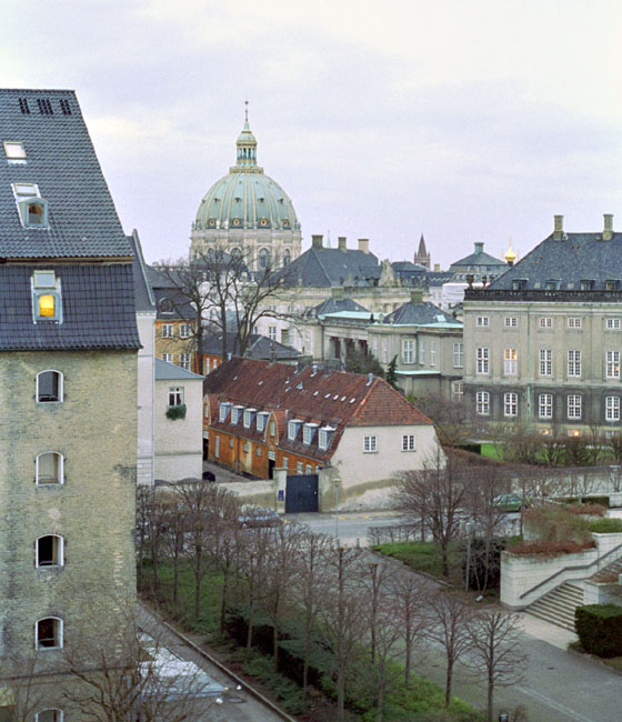
<path fill-rule="evenodd" d="M 469 621 L 470 653 L 464 662 L 484 675 L 488 689 L 488 722 L 492 722 L 494 689 L 518 684 L 529 655 L 521 651 L 518 616 L 505 612 L 478 612 Z"/>

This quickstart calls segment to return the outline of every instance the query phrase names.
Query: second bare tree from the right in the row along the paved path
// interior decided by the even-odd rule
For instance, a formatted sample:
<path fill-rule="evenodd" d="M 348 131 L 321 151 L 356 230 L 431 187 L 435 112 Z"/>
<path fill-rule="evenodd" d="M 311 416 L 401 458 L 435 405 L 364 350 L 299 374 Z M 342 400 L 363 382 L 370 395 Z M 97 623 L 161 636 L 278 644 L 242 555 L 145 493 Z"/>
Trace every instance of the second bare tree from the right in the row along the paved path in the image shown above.
<path fill-rule="evenodd" d="M 449 706 L 455 663 L 471 645 L 471 611 L 451 593 L 438 592 L 428 600 L 428 613 L 430 626 L 425 635 L 440 644 L 445 655 L 445 706 Z"/>

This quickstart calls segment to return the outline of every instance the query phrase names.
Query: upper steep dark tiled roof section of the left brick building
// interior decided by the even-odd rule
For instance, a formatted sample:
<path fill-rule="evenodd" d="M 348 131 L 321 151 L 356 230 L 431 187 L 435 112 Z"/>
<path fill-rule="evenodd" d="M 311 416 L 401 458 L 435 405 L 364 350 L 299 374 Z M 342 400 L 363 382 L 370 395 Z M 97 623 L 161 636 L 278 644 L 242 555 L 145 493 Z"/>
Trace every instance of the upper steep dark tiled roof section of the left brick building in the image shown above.
<path fill-rule="evenodd" d="M 73 91 L 0 89 L 0 141 L 21 141 L 27 154 L 26 163 L 8 162 L 0 148 L 0 259 L 130 257 Z M 48 229 L 22 228 L 17 182 L 38 184 L 49 203 Z"/>

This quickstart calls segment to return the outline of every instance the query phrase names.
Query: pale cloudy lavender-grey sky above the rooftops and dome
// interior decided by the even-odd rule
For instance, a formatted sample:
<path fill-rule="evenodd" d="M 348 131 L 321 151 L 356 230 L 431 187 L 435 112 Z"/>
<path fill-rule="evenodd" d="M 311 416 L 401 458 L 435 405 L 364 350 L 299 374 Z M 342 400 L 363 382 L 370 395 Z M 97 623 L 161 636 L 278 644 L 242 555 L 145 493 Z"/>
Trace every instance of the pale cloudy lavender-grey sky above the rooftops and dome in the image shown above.
<path fill-rule="evenodd" d="M 445 269 L 622 227 L 619 0 L 2 0 L 7 88 L 77 91 L 123 228 L 189 251 L 235 160 L 311 234 Z"/>

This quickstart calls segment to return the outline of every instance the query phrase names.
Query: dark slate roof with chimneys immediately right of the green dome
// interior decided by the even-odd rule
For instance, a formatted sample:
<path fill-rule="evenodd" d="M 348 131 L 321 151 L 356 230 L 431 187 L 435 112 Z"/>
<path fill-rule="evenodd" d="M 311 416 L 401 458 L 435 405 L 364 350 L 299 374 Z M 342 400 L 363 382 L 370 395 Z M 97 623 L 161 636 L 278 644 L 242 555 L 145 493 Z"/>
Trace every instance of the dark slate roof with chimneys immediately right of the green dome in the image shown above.
<path fill-rule="evenodd" d="M 378 257 L 354 249 L 310 248 L 282 271 L 284 285 L 314 288 L 373 285 L 380 278 Z"/>

